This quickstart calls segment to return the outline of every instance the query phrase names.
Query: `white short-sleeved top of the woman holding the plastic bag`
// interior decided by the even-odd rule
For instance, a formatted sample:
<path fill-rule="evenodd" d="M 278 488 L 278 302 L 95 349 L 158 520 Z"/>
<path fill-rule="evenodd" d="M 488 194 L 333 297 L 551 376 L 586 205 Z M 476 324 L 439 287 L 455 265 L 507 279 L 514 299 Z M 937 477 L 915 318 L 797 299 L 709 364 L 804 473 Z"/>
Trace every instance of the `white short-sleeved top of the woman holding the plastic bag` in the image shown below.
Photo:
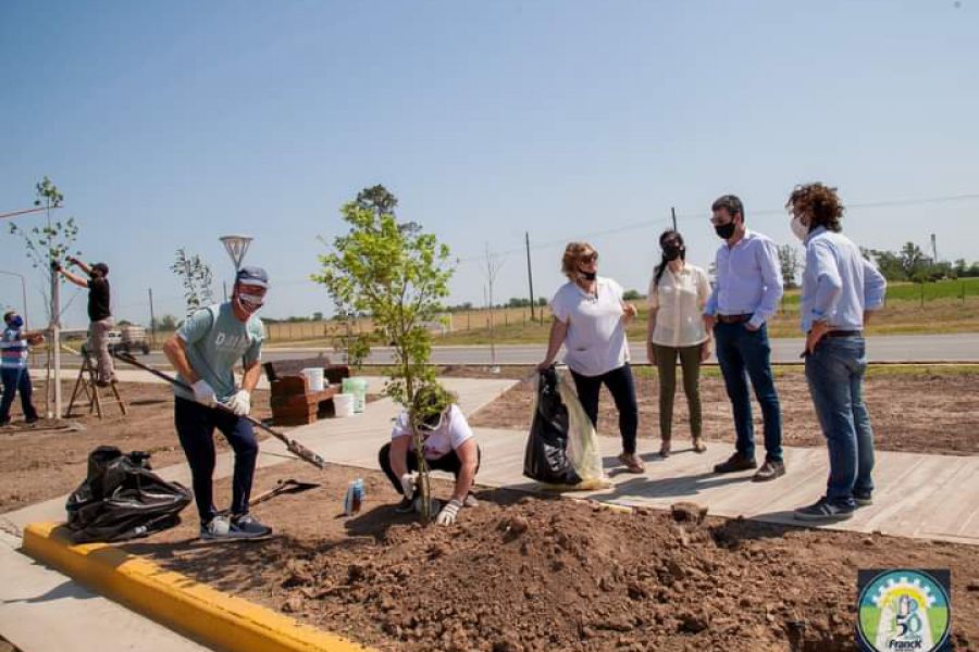
<path fill-rule="evenodd" d="M 568 325 L 565 362 L 582 376 L 600 376 L 629 362 L 622 286 L 602 276 L 596 283 L 597 296 L 568 281 L 550 300 L 550 312 Z"/>

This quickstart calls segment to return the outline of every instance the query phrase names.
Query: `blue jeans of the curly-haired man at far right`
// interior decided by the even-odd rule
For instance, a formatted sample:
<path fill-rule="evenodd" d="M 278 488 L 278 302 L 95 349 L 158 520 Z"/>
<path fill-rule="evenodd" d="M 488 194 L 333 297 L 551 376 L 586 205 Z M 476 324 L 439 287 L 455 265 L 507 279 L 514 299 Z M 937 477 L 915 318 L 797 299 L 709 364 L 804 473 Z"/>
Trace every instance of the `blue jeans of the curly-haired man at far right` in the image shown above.
<path fill-rule="evenodd" d="M 826 497 L 852 505 L 853 496 L 873 491 L 873 430 L 864 402 L 867 371 L 863 337 L 827 337 L 806 358 L 806 380 L 829 450 Z"/>

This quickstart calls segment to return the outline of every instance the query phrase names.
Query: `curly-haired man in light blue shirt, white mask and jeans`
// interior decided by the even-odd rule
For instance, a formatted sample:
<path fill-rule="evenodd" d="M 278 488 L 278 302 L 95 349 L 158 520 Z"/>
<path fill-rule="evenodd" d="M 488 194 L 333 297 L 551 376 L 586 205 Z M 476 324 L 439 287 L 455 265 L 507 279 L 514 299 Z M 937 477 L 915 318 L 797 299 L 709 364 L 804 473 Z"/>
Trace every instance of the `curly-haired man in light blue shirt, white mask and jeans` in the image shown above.
<path fill-rule="evenodd" d="M 826 444 L 830 473 L 826 496 L 800 507 L 800 521 L 850 518 L 870 504 L 873 431 L 864 402 L 867 311 L 883 305 L 887 280 L 840 233 L 843 205 L 835 188 L 798 186 L 785 204 L 792 233 L 806 246 L 800 315 L 806 334 L 806 380 Z"/>

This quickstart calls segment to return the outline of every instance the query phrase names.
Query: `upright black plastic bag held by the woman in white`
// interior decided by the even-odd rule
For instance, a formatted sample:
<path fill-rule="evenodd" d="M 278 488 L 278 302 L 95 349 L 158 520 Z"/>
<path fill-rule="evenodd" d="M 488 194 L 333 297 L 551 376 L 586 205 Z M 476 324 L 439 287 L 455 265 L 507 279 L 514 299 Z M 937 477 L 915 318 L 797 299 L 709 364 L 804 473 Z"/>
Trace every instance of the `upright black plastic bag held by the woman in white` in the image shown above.
<path fill-rule="evenodd" d="M 581 476 L 568 457 L 568 406 L 561 400 L 560 383 L 554 367 L 541 372 L 523 475 L 548 485 L 573 486 L 581 482 Z"/>

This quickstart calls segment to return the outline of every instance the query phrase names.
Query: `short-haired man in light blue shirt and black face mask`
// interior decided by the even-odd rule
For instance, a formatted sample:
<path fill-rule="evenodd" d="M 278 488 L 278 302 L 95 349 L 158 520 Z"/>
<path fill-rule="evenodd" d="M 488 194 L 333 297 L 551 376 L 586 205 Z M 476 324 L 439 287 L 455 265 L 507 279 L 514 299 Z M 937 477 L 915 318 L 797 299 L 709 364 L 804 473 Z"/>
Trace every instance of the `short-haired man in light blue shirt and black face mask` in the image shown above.
<path fill-rule="evenodd" d="M 755 468 L 755 434 L 747 378 L 761 405 L 765 422 L 765 463 L 755 481 L 785 475 L 782 461 L 782 413 L 771 373 L 771 348 L 766 322 L 782 297 L 782 272 L 774 242 L 744 225 L 744 205 L 733 195 L 714 202 L 710 222 L 724 240 L 717 250 L 717 278 L 704 308 L 704 323 L 714 330 L 717 361 L 731 399 L 734 454 L 715 473 Z M 747 376 L 747 378 L 745 377 Z"/>

